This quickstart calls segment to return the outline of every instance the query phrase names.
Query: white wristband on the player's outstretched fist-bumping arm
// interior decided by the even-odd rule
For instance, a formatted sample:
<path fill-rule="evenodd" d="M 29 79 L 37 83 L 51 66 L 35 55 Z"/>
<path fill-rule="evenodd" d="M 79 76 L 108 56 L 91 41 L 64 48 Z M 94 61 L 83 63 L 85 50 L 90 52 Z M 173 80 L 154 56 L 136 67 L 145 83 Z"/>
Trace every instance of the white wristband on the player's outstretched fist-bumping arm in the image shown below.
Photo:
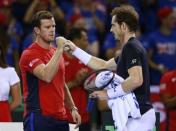
<path fill-rule="evenodd" d="M 73 51 L 72 53 L 76 58 L 78 58 L 81 62 L 83 62 L 85 65 L 88 64 L 90 58 L 92 57 L 90 54 L 87 52 L 83 51 L 80 48 L 76 48 L 76 50 Z"/>

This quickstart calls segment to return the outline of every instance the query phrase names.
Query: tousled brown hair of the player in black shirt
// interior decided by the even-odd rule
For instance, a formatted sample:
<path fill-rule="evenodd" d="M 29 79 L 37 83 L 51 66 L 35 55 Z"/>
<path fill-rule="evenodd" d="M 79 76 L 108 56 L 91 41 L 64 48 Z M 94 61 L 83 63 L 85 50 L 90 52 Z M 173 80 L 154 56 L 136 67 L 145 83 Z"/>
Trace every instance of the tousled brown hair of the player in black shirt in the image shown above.
<path fill-rule="evenodd" d="M 111 15 L 115 15 L 115 20 L 118 24 L 125 22 L 128 25 L 129 31 L 136 32 L 138 29 L 139 16 L 135 9 L 130 5 L 121 5 L 112 10 Z"/>

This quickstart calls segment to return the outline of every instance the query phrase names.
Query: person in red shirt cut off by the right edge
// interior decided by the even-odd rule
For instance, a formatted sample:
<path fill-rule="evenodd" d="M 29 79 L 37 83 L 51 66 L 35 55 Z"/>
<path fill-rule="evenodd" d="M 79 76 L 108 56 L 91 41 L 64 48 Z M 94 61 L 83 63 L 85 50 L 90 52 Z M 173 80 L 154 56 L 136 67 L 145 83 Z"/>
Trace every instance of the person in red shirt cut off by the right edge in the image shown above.
<path fill-rule="evenodd" d="M 176 130 L 176 70 L 165 73 L 160 82 L 160 95 L 166 110 L 167 131 Z"/>

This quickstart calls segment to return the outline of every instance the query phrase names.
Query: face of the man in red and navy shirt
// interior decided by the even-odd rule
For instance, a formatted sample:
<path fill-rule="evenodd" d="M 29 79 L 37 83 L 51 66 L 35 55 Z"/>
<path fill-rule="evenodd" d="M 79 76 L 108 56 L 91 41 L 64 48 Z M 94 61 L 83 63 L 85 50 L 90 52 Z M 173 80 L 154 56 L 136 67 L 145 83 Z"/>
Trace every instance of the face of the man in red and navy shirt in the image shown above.
<path fill-rule="evenodd" d="M 52 19 L 42 19 L 38 35 L 43 41 L 50 43 L 54 41 L 55 38 L 55 20 Z"/>

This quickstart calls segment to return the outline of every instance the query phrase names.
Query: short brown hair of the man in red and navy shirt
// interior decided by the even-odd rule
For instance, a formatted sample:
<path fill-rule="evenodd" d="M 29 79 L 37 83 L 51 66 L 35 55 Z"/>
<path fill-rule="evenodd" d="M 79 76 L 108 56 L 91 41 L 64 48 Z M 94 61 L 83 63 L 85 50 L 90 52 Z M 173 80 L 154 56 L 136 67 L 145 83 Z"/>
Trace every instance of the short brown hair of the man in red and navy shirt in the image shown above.
<path fill-rule="evenodd" d="M 40 28 L 42 19 L 51 19 L 53 17 L 54 16 L 49 11 L 39 11 L 32 18 L 32 27 Z"/>

